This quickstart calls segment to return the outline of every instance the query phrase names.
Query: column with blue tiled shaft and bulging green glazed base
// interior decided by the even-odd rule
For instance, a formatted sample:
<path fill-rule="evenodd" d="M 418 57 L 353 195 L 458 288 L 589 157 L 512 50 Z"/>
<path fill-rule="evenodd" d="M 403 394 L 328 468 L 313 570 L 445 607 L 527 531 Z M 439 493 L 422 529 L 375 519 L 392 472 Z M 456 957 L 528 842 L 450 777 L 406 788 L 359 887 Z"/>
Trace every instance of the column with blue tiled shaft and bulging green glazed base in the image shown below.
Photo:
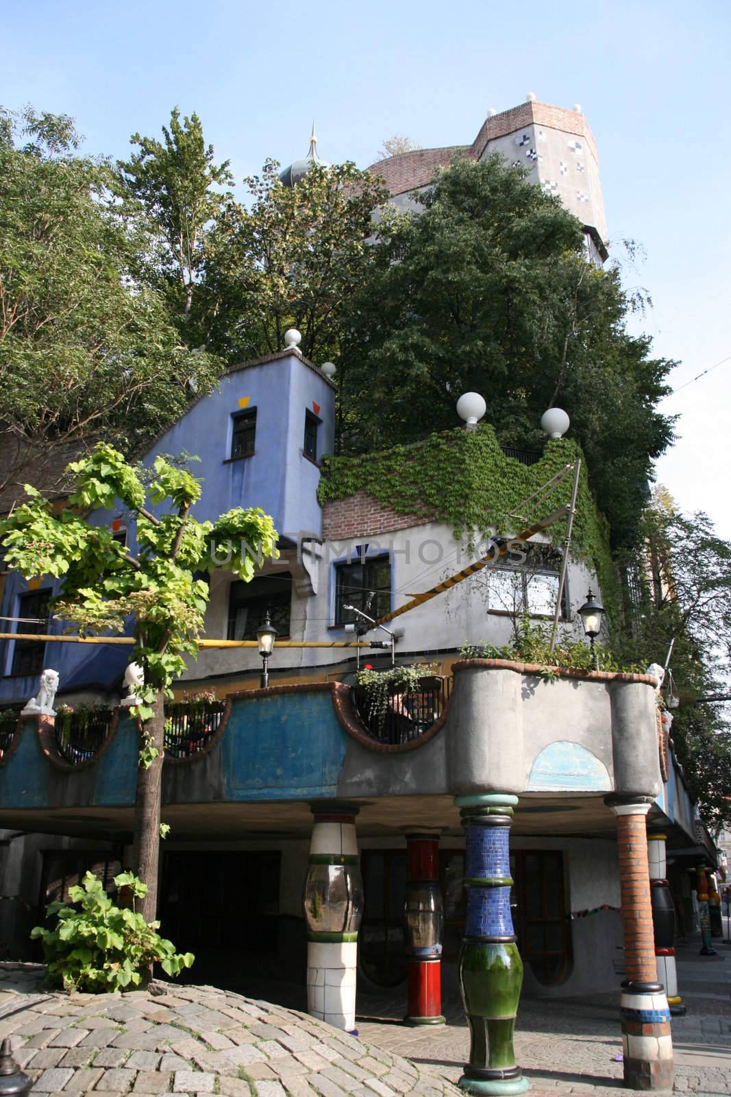
<path fill-rule="evenodd" d="M 470 1030 L 469 1063 L 459 1087 L 480 1095 L 528 1088 L 515 1063 L 513 1030 L 523 985 L 510 895 L 510 827 L 517 796 L 457 796 L 465 827 L 467 917 L 459 985 Z"/>

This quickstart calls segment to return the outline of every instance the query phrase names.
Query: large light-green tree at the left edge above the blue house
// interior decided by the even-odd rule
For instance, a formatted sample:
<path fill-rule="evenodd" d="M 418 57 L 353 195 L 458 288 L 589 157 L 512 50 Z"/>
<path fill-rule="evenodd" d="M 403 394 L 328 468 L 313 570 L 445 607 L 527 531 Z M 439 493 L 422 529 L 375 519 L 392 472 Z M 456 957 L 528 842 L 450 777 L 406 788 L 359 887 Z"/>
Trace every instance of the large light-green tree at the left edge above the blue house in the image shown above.
<path fill-rule="evenodd" d="M 134 450 L 183 412 L 193 373 L 201 392 L 218 374 L 136 279 L 144 226 L 79 143 L 65 115 L 0 113 L 0 487 L 44 465 L 50 487 L 101 437 Z"/>

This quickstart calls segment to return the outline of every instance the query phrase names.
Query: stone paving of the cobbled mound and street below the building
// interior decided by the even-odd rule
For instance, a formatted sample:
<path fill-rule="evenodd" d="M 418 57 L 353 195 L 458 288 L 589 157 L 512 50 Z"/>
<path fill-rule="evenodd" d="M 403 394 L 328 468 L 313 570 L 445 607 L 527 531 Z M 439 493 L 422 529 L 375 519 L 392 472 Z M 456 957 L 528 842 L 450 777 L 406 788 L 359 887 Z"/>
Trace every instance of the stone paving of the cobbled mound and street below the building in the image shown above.
<path fill-rule="evenodd" d="M 673 1019 L 676 1093 L 731 1095 L 731 949 L 678 952 L 688 1007 Z M 0 964 L 0 1037 L 34 1097 L 224 1094 L 228 1097 L 457 1097 L 469 1051 L 457 1002 L 447 1025 L 400 1024 L 403 991 L 358 996 L 358 1040 L 296 1009 L 215 987 L 153 983 L 124 995 L 48 993 L 43 968 Z M 273 986 L 274 993 L 274 986 Z M 618 996 L 524 999 L 515 1047 L 533 1097 L 627 1097 Z M 366 1015 L 366 1016 L 363 1016 Z"/>

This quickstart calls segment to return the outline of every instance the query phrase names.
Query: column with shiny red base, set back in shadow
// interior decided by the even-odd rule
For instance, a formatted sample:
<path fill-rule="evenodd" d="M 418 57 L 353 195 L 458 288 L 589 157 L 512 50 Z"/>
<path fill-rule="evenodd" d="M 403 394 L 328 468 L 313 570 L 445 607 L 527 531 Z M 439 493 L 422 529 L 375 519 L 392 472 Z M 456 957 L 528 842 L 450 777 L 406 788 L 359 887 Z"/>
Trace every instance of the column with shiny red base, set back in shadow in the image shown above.
<path fill-rule="evenodd" d="M 444 1025 L 442 1016 L 442 943 L 444 911 L 439 886 L 439 838 L 407 836 L 407 894 L 403 906 L 409 958 L 407 1025 Z"/>

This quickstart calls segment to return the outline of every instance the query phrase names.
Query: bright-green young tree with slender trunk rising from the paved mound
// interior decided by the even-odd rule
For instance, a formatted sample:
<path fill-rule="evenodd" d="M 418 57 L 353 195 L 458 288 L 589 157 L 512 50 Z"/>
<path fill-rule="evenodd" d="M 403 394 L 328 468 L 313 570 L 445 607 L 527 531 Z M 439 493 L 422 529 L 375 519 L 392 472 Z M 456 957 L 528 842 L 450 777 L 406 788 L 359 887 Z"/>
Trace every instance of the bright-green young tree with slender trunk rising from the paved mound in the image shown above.
<path fill-rule="evenodd" d="M 195 576 L 225 559 L 228 570 L 251 579 L 256 561 L 277 555 L 277 534 L 259 508 L 195 520 L 199 480 L 162 457 L 144 478 L 118 451 L 100 444 L 68 472 L 76 480 L 69 506 L 54 513 L 26 485 L 28 501 L 0 522 L 0 544 L 7 564 L 26 578 L 62 577 L 54 612 L 82 634 L 123 632 L 134 621 L 134 657 L 145 671 L 135 869 L 148 886 L 141 915 L 149 923 L 157 907 L 164 697 L 185 669 L 185 656 L 197 654 L 208 599 L 207 585 Z M 113 540 L 108 525 L 81 517 L 119 502 L 136 519 L 137 555 Z"/>

